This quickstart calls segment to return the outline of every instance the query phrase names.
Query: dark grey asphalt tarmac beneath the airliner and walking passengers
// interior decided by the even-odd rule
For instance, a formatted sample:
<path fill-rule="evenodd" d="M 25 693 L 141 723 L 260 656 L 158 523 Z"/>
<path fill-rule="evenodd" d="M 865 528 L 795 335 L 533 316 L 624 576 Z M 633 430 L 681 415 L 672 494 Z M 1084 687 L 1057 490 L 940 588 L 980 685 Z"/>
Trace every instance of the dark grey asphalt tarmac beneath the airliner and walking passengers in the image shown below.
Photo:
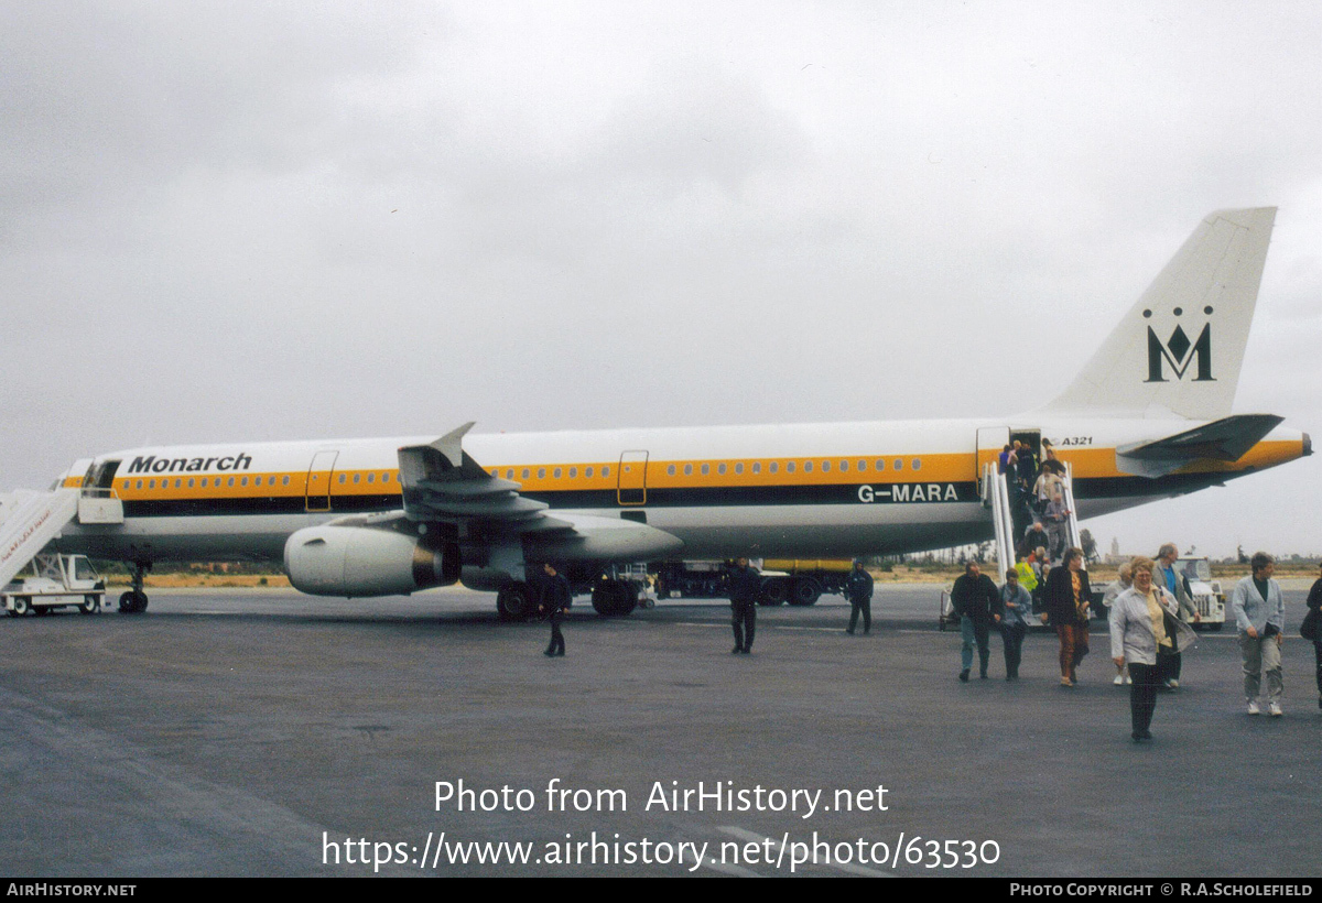
<path fill-rule="evenodd" d="M 763 608 L 748 656 L 722 600 L 580 599 L 563 658 L 461 590 L 3 619 L 0 873 L 1315 875 L 1303 592 L 1284 718 L 1244 714 L 1231 624 L 1145 744 L 1101 629 L 1073 689 L 1048 633 L 961 684 L 937 594 L 878 586 L 869 636 L 834 596 Z"/>

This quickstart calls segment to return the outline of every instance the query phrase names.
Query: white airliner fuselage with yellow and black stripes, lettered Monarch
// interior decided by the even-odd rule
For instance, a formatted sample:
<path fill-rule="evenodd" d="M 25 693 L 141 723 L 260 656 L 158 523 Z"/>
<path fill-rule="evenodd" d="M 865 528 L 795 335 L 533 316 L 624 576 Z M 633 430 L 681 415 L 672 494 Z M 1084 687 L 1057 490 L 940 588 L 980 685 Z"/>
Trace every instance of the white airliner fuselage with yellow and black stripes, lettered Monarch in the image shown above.
<path fill-rule="evenodd" d="M 1116 448 L 1188 430 L 1188 420 L 1011 418 L 486 434 L 464 450 L 553 512 L 632 517 L 683 541 L 683 558 L 850 557 L 992 535 L 978 473 L 1011 432 L 1039 432 L 1071 464 L 1079 516 L 1092 517 L 1309 453 L 1276 428 L 1233 464 L 1161 477 L 1124 473 Z M 1021 426 L 1023 427 L 1021 430 Z M 95 485 L 124 522 L 73 524 L 61 547 L 124 561 L 279 561 L 305 526 L 398 510 L 398 450 L 426 438 L 136 448 L 81 461 L 63 485 Z M 110 461 L 118 461 L 111 477 Z"/>

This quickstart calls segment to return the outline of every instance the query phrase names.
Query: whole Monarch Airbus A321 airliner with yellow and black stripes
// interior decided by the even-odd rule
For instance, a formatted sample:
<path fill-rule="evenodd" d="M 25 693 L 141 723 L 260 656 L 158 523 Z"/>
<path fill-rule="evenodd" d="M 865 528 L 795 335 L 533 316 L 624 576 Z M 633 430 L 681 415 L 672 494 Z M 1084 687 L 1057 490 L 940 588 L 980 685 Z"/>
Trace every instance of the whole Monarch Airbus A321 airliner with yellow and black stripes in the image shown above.
<path fill-rule="evenodd" d="M 984 541 L 980 475 L 1011 436 L 1054 444 L 1080 517 L 1220 485 L 1311 453 L 1282 418 L 1231 414 L 1274 214 L 1208 216 L 1060 397 L 1015 416 L 132 448 L 61 479 L 81 498 L 58 545 L 135 565 L 128 611 L 152 562 L 267 559 L 303 592 L 461 580 L 520 616 L 546 561 Z"/>

